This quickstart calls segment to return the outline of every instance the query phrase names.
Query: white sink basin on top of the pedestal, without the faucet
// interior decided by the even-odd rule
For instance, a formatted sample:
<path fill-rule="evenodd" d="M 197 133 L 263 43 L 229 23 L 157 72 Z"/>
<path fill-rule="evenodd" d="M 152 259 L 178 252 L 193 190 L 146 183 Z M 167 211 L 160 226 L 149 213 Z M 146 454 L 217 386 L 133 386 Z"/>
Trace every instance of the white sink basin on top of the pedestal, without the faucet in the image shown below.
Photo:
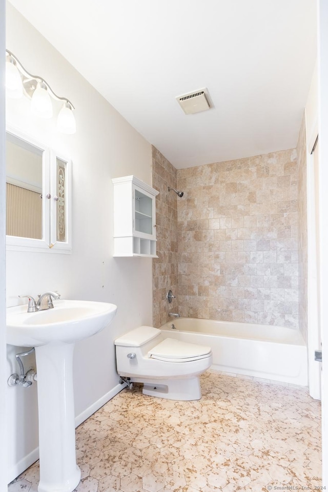
<path fill-rule="evenodd" d="M 103 330 L 116 313 L 115 304 L 54 301 L 54 308 L 27 313 L 27 304 L 7 308 L 7 343 L 38 347 L 53 341 L 74 343 Z"/>

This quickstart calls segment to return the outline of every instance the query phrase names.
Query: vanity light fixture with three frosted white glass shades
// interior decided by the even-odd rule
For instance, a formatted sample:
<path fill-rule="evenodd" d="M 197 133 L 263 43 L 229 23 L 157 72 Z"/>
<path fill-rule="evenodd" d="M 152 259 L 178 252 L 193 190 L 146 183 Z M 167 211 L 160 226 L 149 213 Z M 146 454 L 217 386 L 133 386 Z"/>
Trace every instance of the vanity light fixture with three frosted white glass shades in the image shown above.
<path fill-rule="evenodd" d="M 42 77 L 30 74 L 9 50 L 6 50 L 6 94 L 15 99 L 26 95 L 31 99 L 32 113 L 40 118 L 52 118 L 51 98 L 59 101 L 62 106 L 57 117 L 57 129 L 67 134 L 76 132 L 75 108 L 71 101 L 57 96 Z"/>

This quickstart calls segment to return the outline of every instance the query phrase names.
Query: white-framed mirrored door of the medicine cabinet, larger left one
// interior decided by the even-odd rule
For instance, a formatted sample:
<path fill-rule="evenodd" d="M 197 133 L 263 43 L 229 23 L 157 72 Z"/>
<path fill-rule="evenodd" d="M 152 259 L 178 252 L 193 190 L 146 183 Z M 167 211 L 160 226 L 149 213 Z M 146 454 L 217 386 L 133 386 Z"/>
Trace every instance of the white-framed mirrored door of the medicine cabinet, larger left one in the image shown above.
<path fill-rule="evenodd" d="M 50 240 L 50 150 L 17 129 L 6 145 L 7 247 L 43 251 Z"/>

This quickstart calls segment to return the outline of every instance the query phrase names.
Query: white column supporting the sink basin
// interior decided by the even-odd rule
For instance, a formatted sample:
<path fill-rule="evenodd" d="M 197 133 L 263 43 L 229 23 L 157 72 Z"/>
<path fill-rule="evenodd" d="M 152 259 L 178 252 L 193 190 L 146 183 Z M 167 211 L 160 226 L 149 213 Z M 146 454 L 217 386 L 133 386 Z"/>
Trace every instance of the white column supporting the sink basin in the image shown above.
<path fill-rule="evenodd" d="M 72 492 L 80 481 L 76 465 L 73 396 L 74 343 L 35 347 L 39 416 L 38 492 Z"/>

